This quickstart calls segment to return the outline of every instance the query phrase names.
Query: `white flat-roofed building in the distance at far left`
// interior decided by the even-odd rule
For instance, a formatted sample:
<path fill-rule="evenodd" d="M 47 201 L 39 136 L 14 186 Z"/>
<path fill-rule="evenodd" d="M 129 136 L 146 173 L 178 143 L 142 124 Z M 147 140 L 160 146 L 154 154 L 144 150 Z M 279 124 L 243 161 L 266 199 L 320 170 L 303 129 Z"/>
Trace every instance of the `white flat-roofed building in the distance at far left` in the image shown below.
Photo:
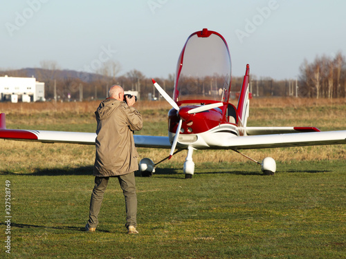
<path fill-rule="evenodd" d="M 35 77 L 0 77 L 0 101 L 45 101 L 44 83 Z"/>

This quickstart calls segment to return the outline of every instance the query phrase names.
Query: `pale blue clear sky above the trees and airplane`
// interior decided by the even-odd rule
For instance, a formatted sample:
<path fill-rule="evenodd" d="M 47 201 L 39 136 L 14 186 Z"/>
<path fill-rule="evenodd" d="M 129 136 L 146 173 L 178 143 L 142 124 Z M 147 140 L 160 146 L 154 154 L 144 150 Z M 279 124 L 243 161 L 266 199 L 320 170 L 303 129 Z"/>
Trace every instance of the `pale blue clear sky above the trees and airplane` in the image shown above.
<path fill-rule="evenodd" d="M 140 70 L 167 77 L 188 36 L 202 28 L 224 36 L 233 76 L 291 79 L 304 59 L 346 55 L 346 1 L 298 0 L 17 0 L 1 3 L 0 68 L 93 72 L 100 61 L 118 75 Z"/>

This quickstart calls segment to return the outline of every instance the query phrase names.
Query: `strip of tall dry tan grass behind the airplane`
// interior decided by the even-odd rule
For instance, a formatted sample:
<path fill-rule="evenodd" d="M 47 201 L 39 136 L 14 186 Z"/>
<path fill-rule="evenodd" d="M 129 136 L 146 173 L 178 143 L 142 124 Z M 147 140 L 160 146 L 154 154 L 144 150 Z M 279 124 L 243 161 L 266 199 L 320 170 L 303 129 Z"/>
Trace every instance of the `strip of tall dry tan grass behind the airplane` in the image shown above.
<path fill-rule="evenodd" d="M 236 105 L 236 101 L 234 101 Z M 26 126 L 30 129 L 37 125 L 50 126 L 51 130 L 94 131 L 94 111 L 100 101 L 69 103 L 0 103 L 0 112 L 6 113 L 8 128 Z M 165 101 L 140 101 L 136 104 L 142 112 L 145 125 L 149 128 L 146 135 L 167 134 L 167 111 L 170 105 Z M 300 99 L 300 98 L 263 98 L 251 100 L 248 126 L 316 126 L 322 131 L 346 129 L 345 99 Z M 69 124 L 65 126 L 65 124 Z M 75 125 L 75 126 L 74 126 Z M 80 126 L 80 127 L 78 127 Z M 82 127 L 82 128 L 81 128 Z M 84 166 L 92 165 L 93 146 L 75 144 L 42 144 L 36 142 L 1 141 L 1 169 L 26 164 L 35 166 Z M 140 159 L 151 158 L 154 162 L 167 157 L 169 150 L 138 148 Z M 174 155 L 171 162 L 183 163 L 187 151 Z M 271 148 L 244 151 L 249 157 L 261 161 L 271 156 L 277 161 L 291 160 L 345 160 L 346 146 L 309 146 L 295 148 Z M 247 162 L 242 155 L 233 151 L 195 151 L 194 162 Z M 28 169 L 30 171 L 30 169 Z"/>

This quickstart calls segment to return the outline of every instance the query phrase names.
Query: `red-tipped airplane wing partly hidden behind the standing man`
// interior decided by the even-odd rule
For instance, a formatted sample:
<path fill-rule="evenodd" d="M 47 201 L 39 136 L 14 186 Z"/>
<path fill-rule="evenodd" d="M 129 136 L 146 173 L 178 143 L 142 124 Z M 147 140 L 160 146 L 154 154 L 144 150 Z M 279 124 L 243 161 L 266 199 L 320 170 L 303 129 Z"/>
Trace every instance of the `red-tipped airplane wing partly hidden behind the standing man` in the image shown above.
<path fill-rule="evenodd" d="M 95 138 L 96 133 L 7 129 L 5 114 L 0 114 L 0 139 L 95 145 Z M 134 135 L 134 142 L 137 147 L 171 148 L 172 146 L 168 137 L 159 136 Z"/>

